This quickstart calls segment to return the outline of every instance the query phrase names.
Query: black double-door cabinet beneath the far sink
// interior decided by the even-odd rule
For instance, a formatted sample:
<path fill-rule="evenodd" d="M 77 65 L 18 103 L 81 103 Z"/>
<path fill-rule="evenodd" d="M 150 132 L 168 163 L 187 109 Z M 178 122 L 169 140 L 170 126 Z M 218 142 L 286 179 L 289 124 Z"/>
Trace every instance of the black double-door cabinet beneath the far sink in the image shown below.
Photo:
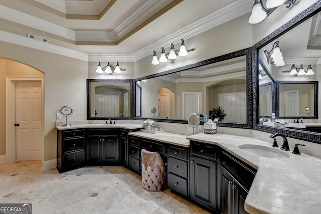
<path fill-rule="evenodd" d="M 119 162 L 119 144 L 117 130 L 87 130 L 87 162 Z"/>

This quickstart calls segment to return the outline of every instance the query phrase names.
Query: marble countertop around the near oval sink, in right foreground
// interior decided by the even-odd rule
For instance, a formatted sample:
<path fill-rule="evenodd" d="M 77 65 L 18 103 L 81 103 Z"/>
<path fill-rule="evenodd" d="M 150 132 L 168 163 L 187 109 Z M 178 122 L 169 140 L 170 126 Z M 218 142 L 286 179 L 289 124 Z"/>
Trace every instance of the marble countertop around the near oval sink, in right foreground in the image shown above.
<path fill-rule="evenodd" d="M 189 140 L 215 144 L 258 169 L 245 200 L 249 213 L 319 213 L 321 209 L 321 159 L 283 151 L 288 158 L 257 156 L 239 148 L 255 144 L 268 148 L 272 143 L 251 137 L 227 134 L 196 134 Z M 281 144 L 281 142 L 279 142 Z"/>

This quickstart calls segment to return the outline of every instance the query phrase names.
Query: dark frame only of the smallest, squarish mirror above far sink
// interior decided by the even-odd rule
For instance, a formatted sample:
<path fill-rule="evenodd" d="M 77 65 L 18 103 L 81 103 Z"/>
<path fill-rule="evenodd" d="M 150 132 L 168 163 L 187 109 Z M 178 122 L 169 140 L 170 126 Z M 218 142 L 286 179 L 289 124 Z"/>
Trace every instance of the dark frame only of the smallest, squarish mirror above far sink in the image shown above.
<path fill-rule="evenodd" d="M 128 82 L 130 83 L 130 117 L 90 117 L 90 94 L 91 94 L 91 83 L 92 82 L 102 82 L 102 83 L 113 83 L 113 82 Z M 133 118 L 133 80 L 103 80 L 103 79 L 87 79 L 87 120 L 108 120 L 108 119 L 121 119 L 121 120 L 131 120 Z"/>

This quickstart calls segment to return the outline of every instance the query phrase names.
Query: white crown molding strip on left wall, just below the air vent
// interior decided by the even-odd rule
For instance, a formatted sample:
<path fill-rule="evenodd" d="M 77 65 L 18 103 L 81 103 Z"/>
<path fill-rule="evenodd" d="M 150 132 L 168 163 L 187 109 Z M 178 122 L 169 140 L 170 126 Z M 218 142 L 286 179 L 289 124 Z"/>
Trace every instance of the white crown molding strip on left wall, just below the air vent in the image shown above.
<path fill-rule="evenodd" d="M 78 60 L 88 61 L 88 55 L 79 51 L 63 48 L 50 43 L 40 42 L 29 39 L 28 37 L 19 36 L 6 31 L 0 31 L 0 41 L 20 45 L 40 51 L 71 57 Z"/>

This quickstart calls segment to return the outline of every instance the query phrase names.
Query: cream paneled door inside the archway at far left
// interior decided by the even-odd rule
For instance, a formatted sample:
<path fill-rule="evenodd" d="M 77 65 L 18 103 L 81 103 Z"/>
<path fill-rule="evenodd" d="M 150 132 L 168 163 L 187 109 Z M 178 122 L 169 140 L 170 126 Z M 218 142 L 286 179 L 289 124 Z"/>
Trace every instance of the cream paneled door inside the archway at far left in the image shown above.
<path fill-rule="evenodd" d="M 41 82 L 16 82 L 17 160 L 42 160 Z"/>

